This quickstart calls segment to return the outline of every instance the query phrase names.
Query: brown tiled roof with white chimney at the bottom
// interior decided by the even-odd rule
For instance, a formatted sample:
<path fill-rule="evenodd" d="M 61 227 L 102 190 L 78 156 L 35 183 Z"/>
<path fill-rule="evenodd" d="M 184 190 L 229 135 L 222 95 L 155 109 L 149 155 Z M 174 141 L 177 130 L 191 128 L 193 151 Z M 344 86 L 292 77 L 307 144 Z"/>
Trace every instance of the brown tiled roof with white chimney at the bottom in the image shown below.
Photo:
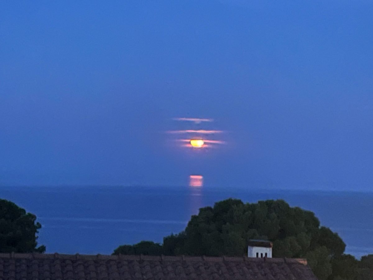
<path fill-rule="evenodd" d="M 317 280 L 305 260 L 187 256 L 0 254 L 1 280 Z"/>

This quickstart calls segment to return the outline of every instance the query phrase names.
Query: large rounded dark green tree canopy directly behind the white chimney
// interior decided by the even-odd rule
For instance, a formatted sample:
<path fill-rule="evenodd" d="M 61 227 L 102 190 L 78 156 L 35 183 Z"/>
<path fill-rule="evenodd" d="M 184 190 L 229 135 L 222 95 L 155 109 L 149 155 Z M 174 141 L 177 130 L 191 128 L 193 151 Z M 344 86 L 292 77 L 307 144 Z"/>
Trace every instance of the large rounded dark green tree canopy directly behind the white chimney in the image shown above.
<path fill-rule="evenodd" d="M 299 258 L 318 249 L 330 258 L 345 250 L 338 234 L 320 227 L 313 212 L 290 207 L 283 200 L 245 204 L 238 199 L 201 208 L 185 231 L 165 237 L 163 246 L 170 254 L 242 256 L 248 239 L 273 241 L 275 257 Z"/>

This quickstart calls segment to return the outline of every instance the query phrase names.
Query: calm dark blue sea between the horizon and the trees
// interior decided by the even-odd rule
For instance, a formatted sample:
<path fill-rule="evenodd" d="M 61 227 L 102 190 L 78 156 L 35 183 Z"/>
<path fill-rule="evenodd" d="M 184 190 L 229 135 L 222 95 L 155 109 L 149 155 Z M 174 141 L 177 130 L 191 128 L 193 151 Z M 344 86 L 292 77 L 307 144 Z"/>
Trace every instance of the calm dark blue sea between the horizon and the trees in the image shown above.
<path fill-rule="evenodd" d="M 32 212 L 47 252 L 110 254 L 122 244 L 162 242 L 183 230 L 198 209 L 228 197 L 244 202 L 285 199 L 315 212 L 339 233 L 347 253 L 373 253 L 373 193 L 216 190 L 190 187 L 0 187 L 0 198 Z"/>

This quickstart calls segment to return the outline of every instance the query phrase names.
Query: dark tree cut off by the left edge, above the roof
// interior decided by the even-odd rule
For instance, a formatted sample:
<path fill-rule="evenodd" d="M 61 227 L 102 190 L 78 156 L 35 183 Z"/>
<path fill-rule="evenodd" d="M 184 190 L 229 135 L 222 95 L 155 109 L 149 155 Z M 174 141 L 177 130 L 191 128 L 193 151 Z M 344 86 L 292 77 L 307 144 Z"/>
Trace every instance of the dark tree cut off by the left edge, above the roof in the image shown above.
<path fill-rule="evenodd" d="M 46 247 L 37 247 L 37 233 L 41 224 L 36 216 L 26 213 L 15 203 L 0 199 L 0 252 L 44 252 Z"/>

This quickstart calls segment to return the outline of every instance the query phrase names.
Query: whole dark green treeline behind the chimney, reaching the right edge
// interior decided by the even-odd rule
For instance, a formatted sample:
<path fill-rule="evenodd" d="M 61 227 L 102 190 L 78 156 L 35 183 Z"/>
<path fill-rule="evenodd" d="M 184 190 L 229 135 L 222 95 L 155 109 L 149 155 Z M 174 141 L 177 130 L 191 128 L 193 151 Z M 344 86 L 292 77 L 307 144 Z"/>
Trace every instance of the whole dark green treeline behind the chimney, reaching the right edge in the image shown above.
<path fill-rule="evenodd" d="M 271 240 L 274 257 L 307 258 L 320 280 L 373 279 L 373 255 L 358 261 L 344 254 L 337 233 L 320 226 L 313 212 L 283 200 L 223 200 L 201 208 L 184 231 L 164 237 L 162 245 L 143 241 L 119 246 L 114 254 L 242 256 L 249 239 Z"/>

